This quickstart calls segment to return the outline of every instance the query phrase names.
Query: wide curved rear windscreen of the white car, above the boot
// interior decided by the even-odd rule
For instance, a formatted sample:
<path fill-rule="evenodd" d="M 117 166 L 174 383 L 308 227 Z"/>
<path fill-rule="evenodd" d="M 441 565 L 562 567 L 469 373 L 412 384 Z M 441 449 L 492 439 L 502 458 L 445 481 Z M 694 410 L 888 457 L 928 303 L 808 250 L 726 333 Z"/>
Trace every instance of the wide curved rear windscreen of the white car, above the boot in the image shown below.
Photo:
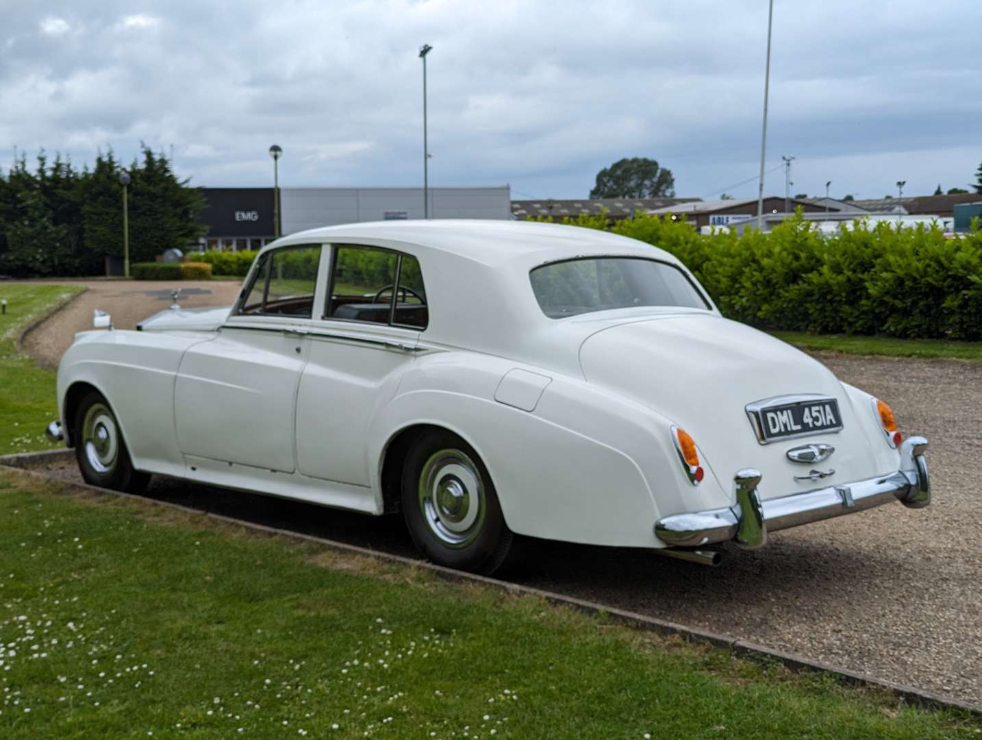
<path fill-rule="evenodd" d="M 681 269 L 640 257 L 584 257 L 536 267 L 535 300 L 550 318 L 635 306 L 708 309 Z"/>

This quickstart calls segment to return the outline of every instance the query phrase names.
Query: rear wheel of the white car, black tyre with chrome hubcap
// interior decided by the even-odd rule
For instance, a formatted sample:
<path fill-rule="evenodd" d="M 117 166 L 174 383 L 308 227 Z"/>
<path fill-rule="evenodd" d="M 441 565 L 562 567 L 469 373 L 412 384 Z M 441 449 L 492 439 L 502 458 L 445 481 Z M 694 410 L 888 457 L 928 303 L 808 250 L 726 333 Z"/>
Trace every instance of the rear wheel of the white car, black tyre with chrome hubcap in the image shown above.
<path fill-rule="evenodd" d="M 409 449 L 403 514 L 420 551 L 458 570 L 494 573 L 515 538 L 484 464 L 449 431 L 426 432 Z"/>

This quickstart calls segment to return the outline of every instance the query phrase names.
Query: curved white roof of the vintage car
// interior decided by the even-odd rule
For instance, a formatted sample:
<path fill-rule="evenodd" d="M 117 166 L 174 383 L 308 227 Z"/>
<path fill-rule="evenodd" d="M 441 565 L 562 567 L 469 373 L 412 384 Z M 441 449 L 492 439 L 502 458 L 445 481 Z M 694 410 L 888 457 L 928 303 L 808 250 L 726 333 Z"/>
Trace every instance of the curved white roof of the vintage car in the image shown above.
<path fill-rule="evenodd" d="M 528 267 L 576 256 L 640 256 L 679 263 L 657 247 L 617 234 L 566 224 L 478 219 L 373 221 L 308 229 L 263 251 L 310 241 L 396 242 L 423 251 L 464 257 L 489 267 L 519 262 Z M 384 244 L 381 246 L 385 246 Z M 416 250 L 413 250 L 416 252 Z"/>

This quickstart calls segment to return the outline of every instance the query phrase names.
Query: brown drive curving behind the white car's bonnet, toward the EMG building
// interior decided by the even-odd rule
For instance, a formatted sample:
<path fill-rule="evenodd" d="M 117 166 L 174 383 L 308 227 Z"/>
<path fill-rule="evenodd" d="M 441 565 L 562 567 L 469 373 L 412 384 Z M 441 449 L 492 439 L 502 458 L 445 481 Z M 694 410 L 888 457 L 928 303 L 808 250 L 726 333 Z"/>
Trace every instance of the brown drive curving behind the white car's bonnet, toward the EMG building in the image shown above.
<path fill-rule="evenodd" d="M 29 282 L 29 281 L 28 281 Z M 79 331 L 92 328 L 92 311 L 112 314 L 113 325 L 132 329 L 136 322 L 170 306 L 171 291 L 181 288 L 187 308 L 230 306 L 239 295 L 238 280 L 53 280 L 59 285 L 84 285 L 88 290 L 66 309 L 27 334 L 25 350 L 42 365 L 58 365 Z"/>

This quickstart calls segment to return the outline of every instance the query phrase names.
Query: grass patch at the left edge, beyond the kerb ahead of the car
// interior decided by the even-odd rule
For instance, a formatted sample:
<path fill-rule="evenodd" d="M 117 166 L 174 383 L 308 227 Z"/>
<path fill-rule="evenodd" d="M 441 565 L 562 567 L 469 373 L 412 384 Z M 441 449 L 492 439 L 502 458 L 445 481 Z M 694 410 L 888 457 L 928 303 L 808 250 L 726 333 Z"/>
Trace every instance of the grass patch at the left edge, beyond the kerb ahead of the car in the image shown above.
<path fill-rule="evenodd" d="M 14 341 L 31 323 L 82 287 L 0 283 L 7 314 L 0 316 L 0 455 L 48 449 L 44 427 L 58 416 L 56 373 L 18 355 Z"/>

